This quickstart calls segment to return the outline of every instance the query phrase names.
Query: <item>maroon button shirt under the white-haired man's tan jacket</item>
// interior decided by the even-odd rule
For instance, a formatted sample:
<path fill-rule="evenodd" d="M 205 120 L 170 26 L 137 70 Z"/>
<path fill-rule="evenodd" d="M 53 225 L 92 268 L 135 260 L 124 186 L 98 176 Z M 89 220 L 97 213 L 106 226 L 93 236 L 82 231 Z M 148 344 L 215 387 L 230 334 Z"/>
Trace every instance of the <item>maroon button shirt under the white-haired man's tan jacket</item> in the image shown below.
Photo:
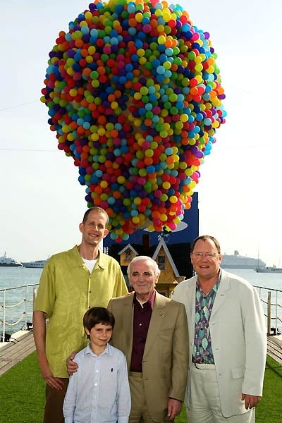
<path fill-rule="evenodd" d="M 154 290 L 147 302 L 140 305 L 136 298 L 133 297 L 133 350 L 131 355 L 131 372 L 142 372 L 142 360 L 145 350 L 145 343 L 154 307 L 154 299 L 156 291 Z"/>

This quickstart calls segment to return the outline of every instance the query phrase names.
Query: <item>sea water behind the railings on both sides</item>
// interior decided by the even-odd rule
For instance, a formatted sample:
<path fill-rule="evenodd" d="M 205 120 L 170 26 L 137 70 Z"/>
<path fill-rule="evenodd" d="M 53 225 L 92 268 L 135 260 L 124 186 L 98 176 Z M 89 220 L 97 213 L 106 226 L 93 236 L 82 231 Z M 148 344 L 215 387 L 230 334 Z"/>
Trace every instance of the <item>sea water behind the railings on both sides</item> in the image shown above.
<path fill-rule="evenodd" d="M 32 298 L 33 290 L 37 288 L 40 275 L 43 269 L 27 269 L 25 267 L 0 267 L 0 321 L 4 316 L 4 295 L 8 308 L 5 309 L 6 333 L 14 333 L 25 326 L 25 321 L 32 322 Z M 252 269 L 226 269 L 252 283 L 253 286 L 271 288 L 282 291 L 282 274 L 263 274 L 257 273 Z M 14 288 L 16 286 L 35 285 L 30 288 L 18 288 L 4 291 L 3 288 Z M 266 301 L 268 289 L 260 290 L 261 298 Z M 259 291 L 259 289 L 258 289 Z M 23 301 L 26 299 L 27 301 Z M 20 305 L 13 307 L 21 302 Z M 282 292 L 277 293 L 277 302 L 282 306 Z M 276 303 L 276 292 L 271 291 L 271 303 Z M 26 307 L 26 308 L 25 308 Z M 263 303 L 266 312 L 266 304 Z M 25 312 L 27 310 L 27 312 Z M 276 307 L 271 307 L 271 317 L 274 317 Z M 277 307 L 277 314 L 282 321 L 282 307 Z M 21 319 L 20 319 L 21 318 Z M 18 321 L 20 319 L 20 321 Z M 18 321 L 18 323 L 16 323 Z M 282 323 L 278 321 L 278 329 L 282 329 Z M 12 325 L 12 326 L 11 326 Z M 271 326 L 275 326 L 275 321 L 271 321 Z M 0 324 L 0 334 L 3 331 L 3 323 Z"/>

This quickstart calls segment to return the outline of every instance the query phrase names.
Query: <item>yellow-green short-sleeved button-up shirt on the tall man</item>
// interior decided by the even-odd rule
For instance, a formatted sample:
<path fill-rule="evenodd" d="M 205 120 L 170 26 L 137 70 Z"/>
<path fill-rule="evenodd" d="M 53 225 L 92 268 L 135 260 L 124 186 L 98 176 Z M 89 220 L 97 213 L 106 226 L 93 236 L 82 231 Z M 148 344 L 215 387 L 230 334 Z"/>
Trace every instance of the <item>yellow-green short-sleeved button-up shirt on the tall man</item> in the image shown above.
<path fill-rule="evenodd" d="M 49 258 L 39 282 L 35 310 L 47 314 L 46 355 L 55 377 L 68 377 L 66 358 L 87 345 L 82 319 L 90 307 L 107 307 L 128 293 L 118 262 L 99 252 L 90 274 L 75 246 Z"/>

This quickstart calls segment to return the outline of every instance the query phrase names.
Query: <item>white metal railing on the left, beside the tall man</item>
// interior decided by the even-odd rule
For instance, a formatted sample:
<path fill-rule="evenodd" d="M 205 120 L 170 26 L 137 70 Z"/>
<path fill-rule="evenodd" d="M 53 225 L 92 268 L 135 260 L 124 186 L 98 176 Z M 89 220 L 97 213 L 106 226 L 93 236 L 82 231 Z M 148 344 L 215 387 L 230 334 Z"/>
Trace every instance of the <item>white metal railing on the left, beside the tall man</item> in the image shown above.
<path fill-rule="evenodd" d="M 39 285 L 39 283 L 32 283 L 30 285 L 20 285 L 20 286 L 15 286 L 13 288 L 1 288 L 0 289 L 0 295 L 3 295 L 3 302 L 0 305 L 0 310 L 2 311 L 2 315 L 0 314 L 0 327 L 2 325 L 1 328 L 1 341 L 5 342 L 6 339 L 6 328 L 7 327 L 12 327 L 12 326 L 17 326 L 18 324 L 20 324 L 20 321 L 23 321 L 23 329 L 28 329 L 28 322 L 27 322 L 27 317 L 28 316 L 32 316 L 32 309 L 33 309 L 33 302 L 35 300 L 35 295 L 36 295 L 36 287 Z M 32 293 L 30 293 L 32 288 Z M 24 289 L 25 293 L 23 295 L 23 300 L 20 300 L 18 302 L 13 303 L 13 298 L 16 298 L 16 295 L 13 296 L 13 298 L 7 298 L 8 296 L 11 297 L 11 295 L 9 295 L 11 293 L 12 290 L 20 290 L 20 289 Z M 1 297 L 0 297 L 1 298 Z M 28 303 L 30 303 L 30 307 L 28 307 Z M 32 305 L 31 305 L 32 303 Z M 22 306 L 22 307 L 20 307 Z M 11 321 L 11 319 L 6 320 L 6 312 L 7 310 L 9 310 L 11 312 L 12 309 L 16 309 L 16 307 L 20 307 L 21 310 L 21 314 L 20 317 L 16 320 L 16 321 Z M 31 309 L 31 311 L 29 311 L 28 309 Z M 15 313 L 14 313 L 15 314 Z"/>

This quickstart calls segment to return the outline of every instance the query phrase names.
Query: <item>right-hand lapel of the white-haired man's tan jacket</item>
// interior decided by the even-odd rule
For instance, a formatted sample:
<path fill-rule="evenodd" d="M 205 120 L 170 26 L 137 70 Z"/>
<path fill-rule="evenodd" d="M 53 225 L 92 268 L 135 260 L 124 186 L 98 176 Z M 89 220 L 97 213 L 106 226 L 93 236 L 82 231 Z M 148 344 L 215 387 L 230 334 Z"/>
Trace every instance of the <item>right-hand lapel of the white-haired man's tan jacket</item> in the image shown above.
<path fill-rule="evenodd" d="M 156 298 L 154 300 L 154 308 L 152 311 L 151 320 L 149 323 L 149 329 L 147 333 L 147 339 L 145 344 L 145 350 L 144 350 L 144 357 L 152 348 L 152 345 L 156 341 L 156 337 L 158 336 L 159 329 L 161 328 L 161 324 L 164 321 L 164 315 L 166 312 L 166 301 L 167 299 L 156 292 Z"/>

